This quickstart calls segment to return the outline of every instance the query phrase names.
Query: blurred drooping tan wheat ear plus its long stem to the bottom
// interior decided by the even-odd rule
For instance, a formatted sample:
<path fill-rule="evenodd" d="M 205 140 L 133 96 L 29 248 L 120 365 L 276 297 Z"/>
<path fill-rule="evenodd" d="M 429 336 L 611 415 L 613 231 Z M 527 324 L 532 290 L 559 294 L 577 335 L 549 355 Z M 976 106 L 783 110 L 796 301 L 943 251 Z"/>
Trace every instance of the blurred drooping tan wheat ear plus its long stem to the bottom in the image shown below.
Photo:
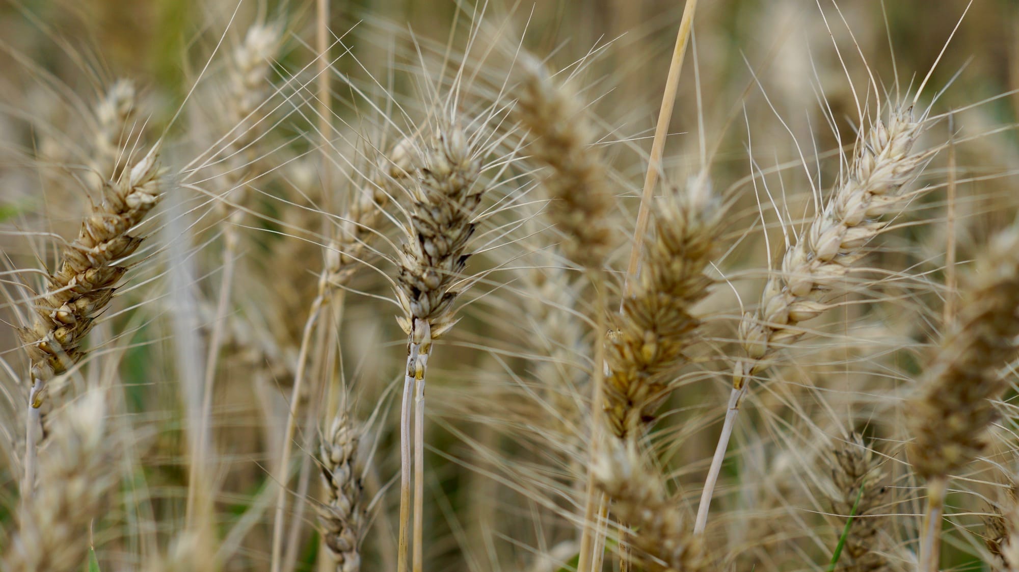
<path fill-rule="evenodd" d="M 605 187 L 607 169 L 600 153 L 592 147 L 594 136 L 582 112 L 579 98 L 565 86 L 554 84 L 539 62 L 525 55 L 522 93 L 514 108 L 518 120 L 532 138 L 528 150 L 539 163 L 549 167 L 543 187 L 550 201 L 548 216 L 564 236 L 567 258 L 585 268 L 597 296 L 595 305 L 594 364 L 591 382 L 591 433 L 596 443 L 597 412 L 601 409 L 605 346 L 604 273 L 605 257 L 611 250 L 613 233 L 609 214 L 612 195 Z M 595 455 L 591 447 L 591 456 Z M 578 570 L 589 572 L 600 557 L 600 538 L 592 536 L 595 513 L 604 512 L 604 500 L 595 489 L 588 470 Z"/>

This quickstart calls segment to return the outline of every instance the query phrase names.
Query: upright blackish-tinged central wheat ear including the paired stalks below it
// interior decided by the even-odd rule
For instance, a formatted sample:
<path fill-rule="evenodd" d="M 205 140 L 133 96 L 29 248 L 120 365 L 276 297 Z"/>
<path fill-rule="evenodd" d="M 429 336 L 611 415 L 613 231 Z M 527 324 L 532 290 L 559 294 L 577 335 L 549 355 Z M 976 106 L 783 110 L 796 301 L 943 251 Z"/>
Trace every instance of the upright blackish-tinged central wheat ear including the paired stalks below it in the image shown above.
<path fill-rule="evenodd" d="M 410 511 L 411 419 L 414 403 L 414 572 L 421 572 L 424 526 L 425 373 L 432 342 L 455 323 L 455 283 L 470 256 L 467 242 L 474 232 L 478 206 L 485 192 L 478 185 L 481 161 L 472 142 L 457 125 L 440 127 L 421 158 L 418 181 L 412 188 L 407 240 L 398 253 L 397 316 L 408 334 L 407 373 L 400 413 L 399 564 L 407 566 Z"/>

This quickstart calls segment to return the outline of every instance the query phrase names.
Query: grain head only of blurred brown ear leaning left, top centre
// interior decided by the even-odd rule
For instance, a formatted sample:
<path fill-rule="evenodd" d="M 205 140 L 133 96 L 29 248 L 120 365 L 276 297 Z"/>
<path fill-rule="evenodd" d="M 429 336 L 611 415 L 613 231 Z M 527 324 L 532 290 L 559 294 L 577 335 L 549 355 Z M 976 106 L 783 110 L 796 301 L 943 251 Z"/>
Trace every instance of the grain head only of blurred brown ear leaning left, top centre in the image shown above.
<path fill-rule="evenodd" d="M 551 199 L 549 217 L 565 237 L 562 251 L 585 268 L 601 268 L 614 236 L 608 224 L 612 195 L 583 107 L 533 57 L 523 56 L 520 63 L 524 79 L 514 111 L 533 138 L 527 150 L 551 170 L 544 187 Z"/>

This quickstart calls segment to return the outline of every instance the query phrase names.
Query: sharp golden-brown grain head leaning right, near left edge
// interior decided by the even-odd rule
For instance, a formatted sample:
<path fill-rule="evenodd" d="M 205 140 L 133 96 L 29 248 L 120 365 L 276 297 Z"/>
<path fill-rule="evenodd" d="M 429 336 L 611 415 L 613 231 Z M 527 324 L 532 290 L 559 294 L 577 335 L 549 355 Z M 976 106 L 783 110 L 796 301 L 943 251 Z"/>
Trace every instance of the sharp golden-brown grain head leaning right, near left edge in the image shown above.
<path fill-rule="evenodd" d="M 103 201 L 93 206 L 77 239 L 64 248 L 60 269 L 36 301 L 35 324 L 19 329 L 35 378 L 46 380 L 85 357 L 82 342 L 127 271 L 117 262 L 142 244 L 142 238 L 128 231 L 159 201 L 158 156 L 157 146 L 118 180 L 107 181 Z"/>

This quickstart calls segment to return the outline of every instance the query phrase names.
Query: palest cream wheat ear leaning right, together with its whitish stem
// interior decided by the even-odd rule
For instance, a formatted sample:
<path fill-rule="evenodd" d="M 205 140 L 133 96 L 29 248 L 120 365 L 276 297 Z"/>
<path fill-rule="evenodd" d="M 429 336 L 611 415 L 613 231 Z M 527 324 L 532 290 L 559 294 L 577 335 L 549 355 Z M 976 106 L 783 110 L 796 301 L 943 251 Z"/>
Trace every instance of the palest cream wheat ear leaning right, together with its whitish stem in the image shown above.
<path fill-rule="evenodd" d="M 697 532 L 707 525 L 708 507 L 732 434 L 747 381 L 767 366 L 779 348 L 804 334 L 799 322 L 830 307 L 836 287 L 865 253 L 866 245 L 888 224 L 884 215 L 901 212 L 915 194 L 902 192 L 928 153 L 914 152 L 923 121 L 912 108 L 897 108 L 888 121 L 875 119 L 861 133 L 845 177 L 836 186 L 810 226 L 785 252 L 771 272 L 756 312 L 740 323 L 739 339 L 746 357 L 736 364 L 721 435 L 697 510 Z"/>

